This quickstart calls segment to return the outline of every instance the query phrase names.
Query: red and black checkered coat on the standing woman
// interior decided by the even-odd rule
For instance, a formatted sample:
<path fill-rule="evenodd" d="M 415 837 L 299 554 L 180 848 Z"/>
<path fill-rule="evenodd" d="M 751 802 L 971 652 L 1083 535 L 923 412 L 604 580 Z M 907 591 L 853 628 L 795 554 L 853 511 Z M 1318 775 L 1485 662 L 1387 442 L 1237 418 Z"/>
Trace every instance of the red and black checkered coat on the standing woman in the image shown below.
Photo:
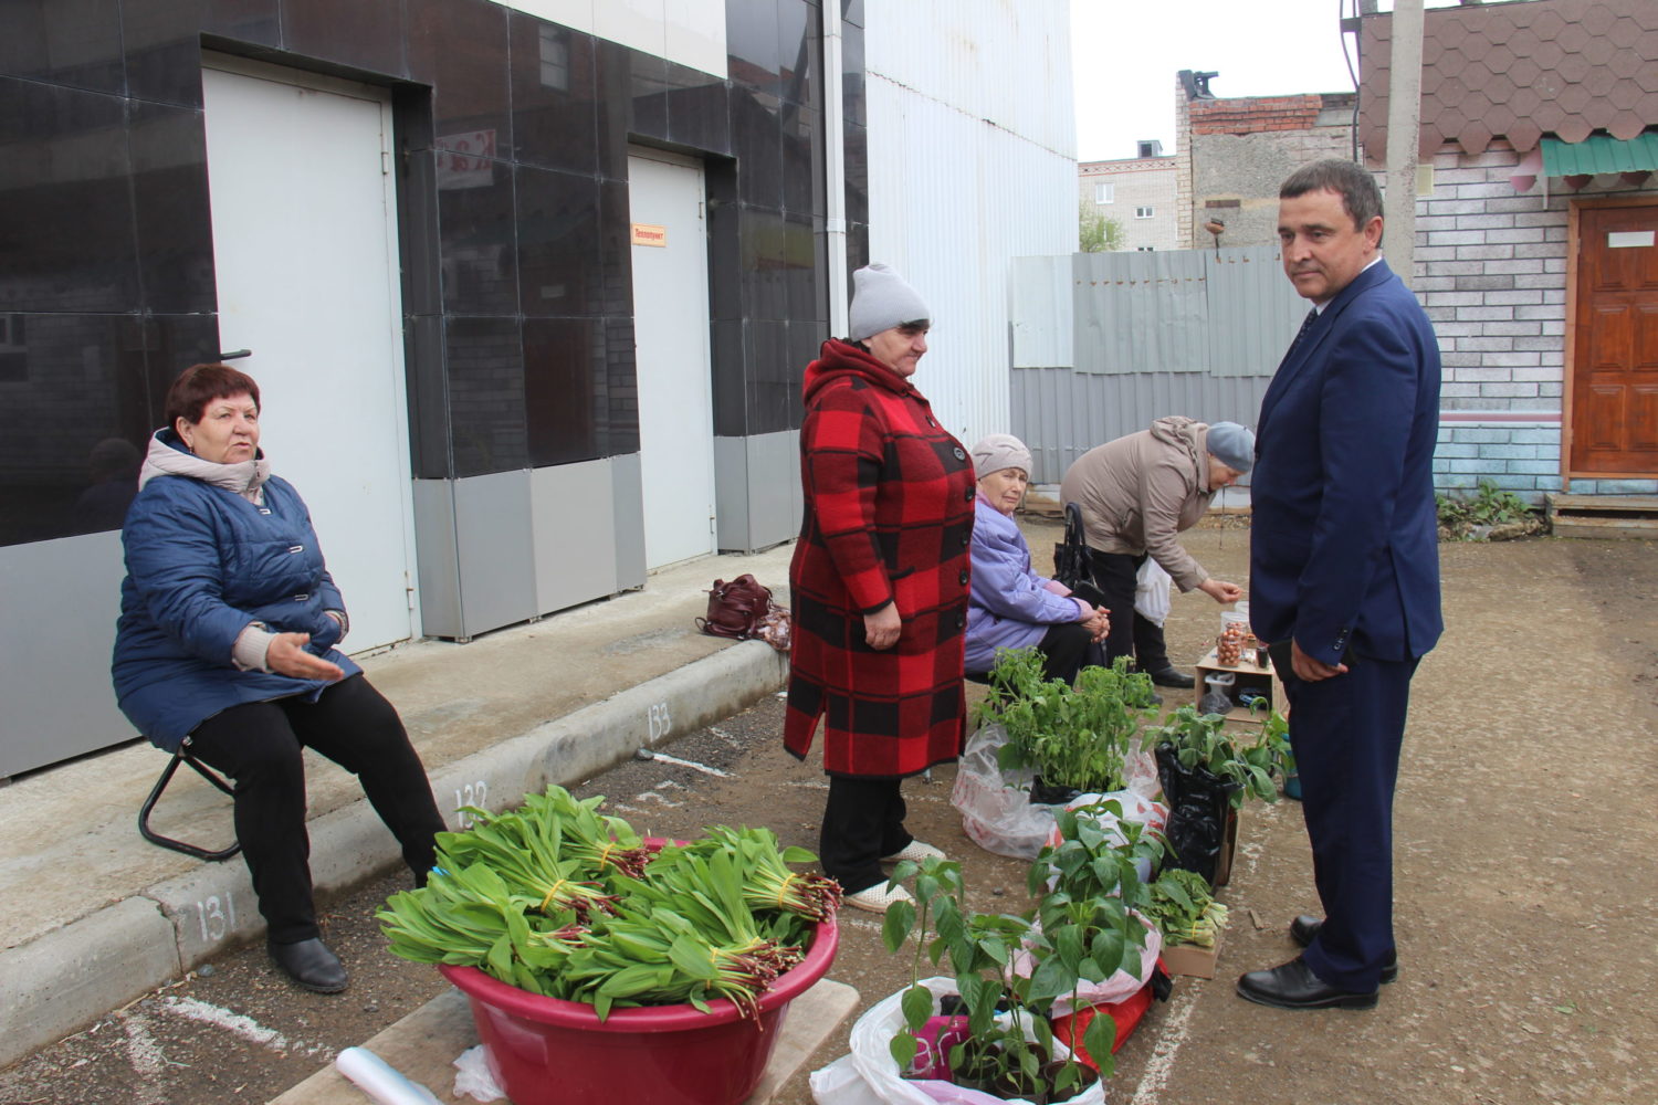
<path fill-rule="evenodd" d="M 962 752 L 973 466 L 904 378 L 844 341 L 806 368 L 806 519 L 789 567 L 794 641 L 784 747 L 824 717 L 824 770 L 914 775 Z M 899 605 L 899 643 L 864 615 Z"/>

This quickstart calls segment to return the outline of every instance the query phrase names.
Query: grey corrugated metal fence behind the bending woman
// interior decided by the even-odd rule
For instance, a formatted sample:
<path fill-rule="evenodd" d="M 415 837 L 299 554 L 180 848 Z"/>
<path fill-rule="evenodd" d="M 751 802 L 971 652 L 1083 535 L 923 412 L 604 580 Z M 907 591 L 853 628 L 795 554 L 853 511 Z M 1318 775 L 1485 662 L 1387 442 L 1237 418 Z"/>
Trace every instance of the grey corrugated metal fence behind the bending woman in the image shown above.
<path fill-rule="evenodd" d="M 1033 482 L 1189 414 L 1250 426 L 1308 303 L 1275 245 L 1013 262 L 1013 426 Z"/>

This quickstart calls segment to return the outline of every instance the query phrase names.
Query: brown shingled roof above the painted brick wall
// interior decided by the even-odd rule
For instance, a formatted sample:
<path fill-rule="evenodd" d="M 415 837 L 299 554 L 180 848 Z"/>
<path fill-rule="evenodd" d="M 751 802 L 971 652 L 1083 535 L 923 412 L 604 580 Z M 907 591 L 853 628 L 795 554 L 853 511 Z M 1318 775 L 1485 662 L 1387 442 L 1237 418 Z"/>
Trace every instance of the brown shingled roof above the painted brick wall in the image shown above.
<path fill-rule="evenodd" d="M 1360 138 L 1388 142 L 1393 17 L 1360 30 Z M 1658 126 L 1658 0 L 1519 0 L 1426 12 L 1421 156 L 1466 154 L 1505 138 L 1519 152 L 1544 134 L 1633 139 Z"/>

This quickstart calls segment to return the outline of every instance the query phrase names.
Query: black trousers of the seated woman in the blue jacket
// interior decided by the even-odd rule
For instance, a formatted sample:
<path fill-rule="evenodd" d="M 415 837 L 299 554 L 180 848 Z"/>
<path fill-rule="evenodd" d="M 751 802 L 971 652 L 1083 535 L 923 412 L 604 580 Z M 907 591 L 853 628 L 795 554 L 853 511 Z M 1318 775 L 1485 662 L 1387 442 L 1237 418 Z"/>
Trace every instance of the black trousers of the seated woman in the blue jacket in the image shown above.
<path fill-rule="evenodd" d="M 235 837 L 272 943 L 320 934 L 305 832 L 303 749 L 358 777 L 380 820 L 403 845 L 416 883 L 424 883 L 443 817 L 403 721 L 366 678 L 350 676 L 315 702 L 285 697 L 232 706 L 196 726 L 189 741 L 191 752 L 235 782 Z"/>

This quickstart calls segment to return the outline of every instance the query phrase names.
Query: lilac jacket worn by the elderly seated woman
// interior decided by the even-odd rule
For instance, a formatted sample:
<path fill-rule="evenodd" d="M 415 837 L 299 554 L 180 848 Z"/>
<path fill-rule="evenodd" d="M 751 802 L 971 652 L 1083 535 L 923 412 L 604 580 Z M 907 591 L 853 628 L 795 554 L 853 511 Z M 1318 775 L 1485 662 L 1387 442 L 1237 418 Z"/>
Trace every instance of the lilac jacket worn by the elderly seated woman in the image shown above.
<path fill-rule="evenodd" d="M 973 583 L 967 606 L 967 669 L 990 671 L 1000 648 L 1041 641 L 1048 626 L 1081 621 L 1074 598 L 1048 590 L 1050 580 L 1031 572 L 1031 550 L 1020 525 L 983 495 L 973 517 Z"/>

